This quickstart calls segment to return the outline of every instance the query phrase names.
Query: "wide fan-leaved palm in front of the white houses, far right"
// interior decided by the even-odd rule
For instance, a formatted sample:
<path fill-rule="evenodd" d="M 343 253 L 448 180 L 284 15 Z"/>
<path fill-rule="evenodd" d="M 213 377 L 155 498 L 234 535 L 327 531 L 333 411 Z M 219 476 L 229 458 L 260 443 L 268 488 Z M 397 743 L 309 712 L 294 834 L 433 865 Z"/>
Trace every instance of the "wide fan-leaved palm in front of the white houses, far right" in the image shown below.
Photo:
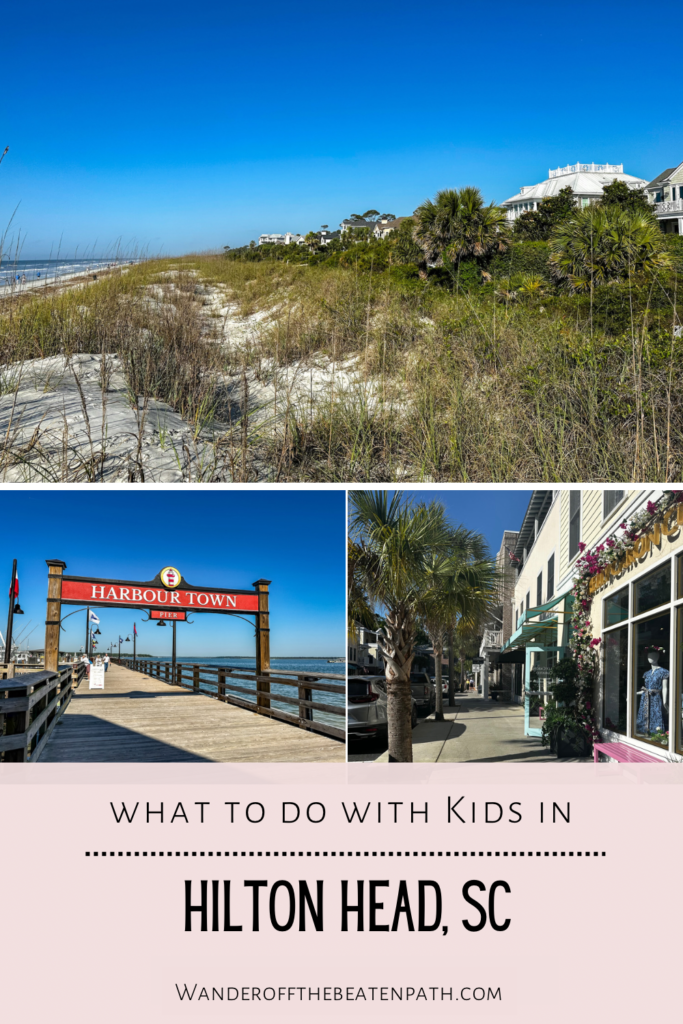
<path fill-rule="evenodd" d="M 654 274 L 671 265 L 659 226 L 647 213 L 589 206 L 559 224 L 550 242 L 553 276 L 571 291 Z"/>

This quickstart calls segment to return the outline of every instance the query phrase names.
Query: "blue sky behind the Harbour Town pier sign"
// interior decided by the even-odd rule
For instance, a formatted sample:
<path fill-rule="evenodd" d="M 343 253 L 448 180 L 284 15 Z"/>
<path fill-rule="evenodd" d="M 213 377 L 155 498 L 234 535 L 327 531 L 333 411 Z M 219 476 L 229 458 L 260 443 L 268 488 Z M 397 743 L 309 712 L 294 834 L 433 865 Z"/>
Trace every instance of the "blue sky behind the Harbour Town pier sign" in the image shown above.
<path fill-rule="evenodd" d="M 73 575 L 146 582 L 173 565 L 188 583 L 250 589 L 271 580 L 272 656 L 343 656 L 345 650 L 345 495 L 310 490 L 51 490 L 11 494 L 11 521 L 0 537 L 0 631 L 5 634 L 12 558 L 18 561 L 14 638 L 32 620 L 29 647 L 45 642 L 46 558 Z M 5 493 L 7 501 L 7 492 Z M 49 515 L 46 508 L 49 505 Z M 75 606 L 63 606 L 62 616 Z M 140 611 L 110 608 L 100 617 L 100 651 L 132 636 L 138 653 L 171 652 L 171 630 Z M 178 624 L 179 655 L 253 656 L 254 631 L 231 615 L 196 614 Z M 61 649 L 85 639 L 85 611 L 65 622 Z M 118 649 L 118 648 L 117 648 Z M 132 644 L 122 653 L 132 653 Z"/>

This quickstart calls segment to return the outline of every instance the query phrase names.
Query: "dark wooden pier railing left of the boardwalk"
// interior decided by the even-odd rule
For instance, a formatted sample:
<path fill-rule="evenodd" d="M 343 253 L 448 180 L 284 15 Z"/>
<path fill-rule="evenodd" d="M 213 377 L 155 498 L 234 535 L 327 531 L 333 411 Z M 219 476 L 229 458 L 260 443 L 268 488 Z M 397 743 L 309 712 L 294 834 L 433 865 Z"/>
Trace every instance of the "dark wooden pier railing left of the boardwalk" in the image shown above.
<path fill-rule="evenodd" d="M 0 761 L 37 761 L 86 673 L 84 665 L 0 679 Z"/>

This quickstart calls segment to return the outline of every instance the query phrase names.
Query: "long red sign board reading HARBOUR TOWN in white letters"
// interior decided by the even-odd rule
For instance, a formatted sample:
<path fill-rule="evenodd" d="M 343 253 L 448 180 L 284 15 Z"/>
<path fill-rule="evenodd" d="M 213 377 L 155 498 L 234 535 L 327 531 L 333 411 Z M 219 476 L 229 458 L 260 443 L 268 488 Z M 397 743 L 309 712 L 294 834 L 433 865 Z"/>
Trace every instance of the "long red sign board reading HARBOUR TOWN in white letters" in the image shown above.
<path fill-rule="evenodd" d="M 194 608 L 196 611 L 258 611 L 258 594 L 240 591 L 166 590 L 157 584 L 106 583 L 68 580 L 61 600 L 71 604 L 112 605 L 120 608 Z"/>

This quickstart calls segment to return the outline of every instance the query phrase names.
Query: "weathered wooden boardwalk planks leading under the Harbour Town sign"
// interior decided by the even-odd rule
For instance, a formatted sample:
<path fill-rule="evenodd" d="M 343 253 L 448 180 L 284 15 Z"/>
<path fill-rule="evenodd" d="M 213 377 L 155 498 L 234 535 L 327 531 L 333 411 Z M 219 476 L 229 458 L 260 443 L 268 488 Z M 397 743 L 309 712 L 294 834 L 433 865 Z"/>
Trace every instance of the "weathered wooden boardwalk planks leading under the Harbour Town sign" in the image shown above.
<path fill-rule="evenodd" d="M 343 762 L 344 743 L 110 665 L 75 691 L 40 762 Z"/>

